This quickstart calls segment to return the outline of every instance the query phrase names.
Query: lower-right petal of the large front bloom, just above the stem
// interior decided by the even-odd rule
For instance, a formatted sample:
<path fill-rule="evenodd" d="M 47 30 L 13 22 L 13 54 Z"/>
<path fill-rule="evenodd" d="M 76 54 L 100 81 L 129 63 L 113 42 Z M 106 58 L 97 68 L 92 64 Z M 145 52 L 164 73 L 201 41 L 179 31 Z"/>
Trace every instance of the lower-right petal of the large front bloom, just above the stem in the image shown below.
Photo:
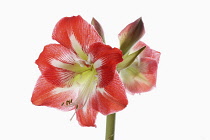
<path fill-rule="evenodd" d="M 96 89 L 96 94 L 92 97 L 91 102 L 93 108 L 104 115 L 118 112 L 127 106 L 125 87 L 117 72 L 109 85 Z"/>

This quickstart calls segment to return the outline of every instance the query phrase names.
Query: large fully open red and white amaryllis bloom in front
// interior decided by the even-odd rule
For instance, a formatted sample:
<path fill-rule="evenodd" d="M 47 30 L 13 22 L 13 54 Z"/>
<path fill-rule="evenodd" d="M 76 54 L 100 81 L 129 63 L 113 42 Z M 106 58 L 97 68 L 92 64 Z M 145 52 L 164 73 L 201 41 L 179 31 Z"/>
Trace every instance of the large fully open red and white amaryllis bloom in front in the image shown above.
<path fill-rule="evenodd" d="M 95 126 L 98 112 L 108 115 L 128 103 L 116 71 L 122 52 L 102 38 L 80 16 L 64 17 L 53 35 L 59 44 L 49 44 L 36 60 L 41 76 L 31 101 L 34 105 L 75 110 L 81 126 Z"/>

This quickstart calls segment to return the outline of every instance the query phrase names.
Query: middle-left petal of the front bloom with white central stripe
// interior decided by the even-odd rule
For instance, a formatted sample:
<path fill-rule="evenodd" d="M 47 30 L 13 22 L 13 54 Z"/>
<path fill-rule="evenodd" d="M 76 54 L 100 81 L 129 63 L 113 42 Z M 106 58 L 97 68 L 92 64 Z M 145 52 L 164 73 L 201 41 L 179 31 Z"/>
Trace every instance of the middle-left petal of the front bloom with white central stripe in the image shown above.
<path fill-rule="evenodd" d="M 56 86 L 65 86 L 71 80 L 78 64 L 77 56 L 60 44 L 50 44 L 44 47 L 43 52 L 36 60 L 42 75 Z M 78 60 L 79 61 L 79 60 Z"/>

